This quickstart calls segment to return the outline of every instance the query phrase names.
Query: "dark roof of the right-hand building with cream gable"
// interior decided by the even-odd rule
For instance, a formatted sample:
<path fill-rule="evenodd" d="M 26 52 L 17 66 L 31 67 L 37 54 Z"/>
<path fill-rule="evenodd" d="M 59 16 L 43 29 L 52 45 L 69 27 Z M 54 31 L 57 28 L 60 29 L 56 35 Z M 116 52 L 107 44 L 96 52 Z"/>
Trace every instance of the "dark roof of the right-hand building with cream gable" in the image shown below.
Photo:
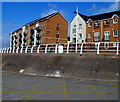
<path fill-rule="evenodd" d="M 77 12 L 74 12 L 74 13 L 77 13 Z M 112 18 L 112 16 L 114 14 L 116 14 L 118 17 L 120 17 L 120 10 L 119 11 L 108 12 L 108 13 L 103 13 L 103 14 L 92 15 L 92 16 L 85 16 L 85 15 L 80 14 L 80 13 L 78 13 L 78 14 L 84 19 L 84 21 L 87 22 L 88 19 L 96 21 L 96 20 Z"/>

